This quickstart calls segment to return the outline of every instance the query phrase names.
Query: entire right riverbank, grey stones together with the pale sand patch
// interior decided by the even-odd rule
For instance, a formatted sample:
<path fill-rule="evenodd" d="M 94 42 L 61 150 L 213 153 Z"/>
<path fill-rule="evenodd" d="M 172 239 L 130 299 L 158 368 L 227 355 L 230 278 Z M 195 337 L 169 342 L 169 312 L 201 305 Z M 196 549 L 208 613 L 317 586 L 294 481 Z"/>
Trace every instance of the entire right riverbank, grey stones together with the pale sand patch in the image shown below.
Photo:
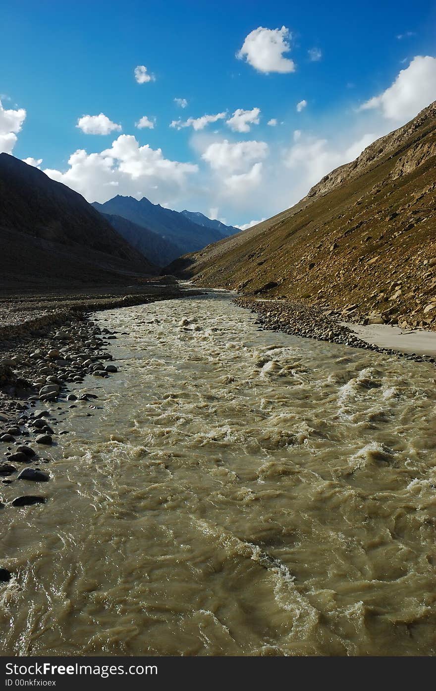
<path fill-rule="evenodd" d="M 384 337 L 380 339 L 376 328 L 344 323 L 341 313 L 315 305 L 244 296 L 237 296 L 235 303 L 255 312 L 258 323 L 266 329 L 352 348 L 397 354 L 416 362 L 436 363 L 436 332 L 424 332 L 423 339 L 421 331 L 413 330 L 406 338 L 404 330 L 384 325 Z"/>

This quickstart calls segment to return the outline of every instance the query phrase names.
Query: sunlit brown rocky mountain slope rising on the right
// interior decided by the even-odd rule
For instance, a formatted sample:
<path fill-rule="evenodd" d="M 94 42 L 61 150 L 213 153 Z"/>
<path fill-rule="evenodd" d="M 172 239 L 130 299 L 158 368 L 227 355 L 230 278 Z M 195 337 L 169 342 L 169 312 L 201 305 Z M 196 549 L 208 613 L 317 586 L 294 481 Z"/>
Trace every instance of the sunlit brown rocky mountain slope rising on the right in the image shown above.
<path fill-rule="evenodd" d="M 436 328 L 436 103 L 291 209 L 166 272 Z"/>

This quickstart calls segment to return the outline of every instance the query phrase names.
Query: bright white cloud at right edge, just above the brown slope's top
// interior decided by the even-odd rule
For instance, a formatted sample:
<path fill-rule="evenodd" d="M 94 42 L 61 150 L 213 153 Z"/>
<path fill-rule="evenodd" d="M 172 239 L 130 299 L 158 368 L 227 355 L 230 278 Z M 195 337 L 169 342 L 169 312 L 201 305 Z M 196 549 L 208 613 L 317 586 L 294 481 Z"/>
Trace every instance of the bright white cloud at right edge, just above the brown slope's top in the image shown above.
<path fill-rule="evenodd" d="M 436 58 L 417 55 L 383 93 L 359 110 L 378 110 L 387 120 L 403 124 L 436 99 Z"/>

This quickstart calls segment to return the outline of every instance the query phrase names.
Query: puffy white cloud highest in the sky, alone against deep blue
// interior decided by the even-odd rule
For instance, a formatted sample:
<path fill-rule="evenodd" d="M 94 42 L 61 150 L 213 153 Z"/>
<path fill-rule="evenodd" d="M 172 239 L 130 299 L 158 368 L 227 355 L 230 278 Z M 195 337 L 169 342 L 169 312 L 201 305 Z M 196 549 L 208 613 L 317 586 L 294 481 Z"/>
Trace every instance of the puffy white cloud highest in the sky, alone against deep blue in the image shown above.
<path fill-rule="evenodd" d="M 290 32 L 286 26 L 281 29 L 266 29 L 259 26 L 246 36 L 236 57 L 246 59 L 258 72 L 288 73 L 295 71 L 295 63 L 284 53 L 289 53 Z"/>

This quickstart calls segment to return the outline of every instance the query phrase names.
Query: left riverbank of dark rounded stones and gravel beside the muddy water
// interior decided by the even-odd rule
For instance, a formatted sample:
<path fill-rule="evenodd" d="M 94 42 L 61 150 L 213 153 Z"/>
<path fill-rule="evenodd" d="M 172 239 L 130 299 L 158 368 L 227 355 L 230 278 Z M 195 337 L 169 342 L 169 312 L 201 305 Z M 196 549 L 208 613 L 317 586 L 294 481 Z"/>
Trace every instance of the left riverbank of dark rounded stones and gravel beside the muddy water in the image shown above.
<path fill-rule="evenodd" d="M 8 502 L 0 491 L 0 509 L 46 502 L 43 492 L 32 489 L 52 480 L 50 448 L 61 446 L 61 435 L 68 434 L 57 403 L 68 403 L 62 415 L 68 408 L 96 404 L 95 394 L 77 396 L 69 386 L 118 371 L 107 351 L 117 332 L 97 327 L 90 312 L 197 292 L 156 281 L 132 294 L 26 296 L 3 302 L 0 312 L 8 319 L 0 323 L 0 487 L 17 484 L 17 491 Z M 0 580 L 9 578 L 8 569 L 0 569 Z"/>

